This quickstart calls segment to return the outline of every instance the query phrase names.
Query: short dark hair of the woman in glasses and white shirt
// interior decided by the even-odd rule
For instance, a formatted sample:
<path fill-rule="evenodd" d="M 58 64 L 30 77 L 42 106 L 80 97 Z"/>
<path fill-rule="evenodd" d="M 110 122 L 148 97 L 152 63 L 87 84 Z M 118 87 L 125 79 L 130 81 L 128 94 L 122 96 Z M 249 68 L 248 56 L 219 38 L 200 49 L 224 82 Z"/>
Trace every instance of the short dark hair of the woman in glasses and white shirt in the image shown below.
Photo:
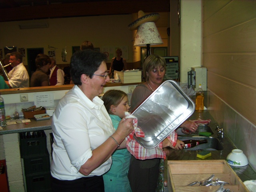
<path fill-rule="evenodd" d="M 70 75 L 75 85 L 82 85 L 81 75 L 86 74 L 90 78 L 98 68 L 102 61 L 106 61 L 106 54 L 86 49 L 76 51 L 70 61 Z"/>

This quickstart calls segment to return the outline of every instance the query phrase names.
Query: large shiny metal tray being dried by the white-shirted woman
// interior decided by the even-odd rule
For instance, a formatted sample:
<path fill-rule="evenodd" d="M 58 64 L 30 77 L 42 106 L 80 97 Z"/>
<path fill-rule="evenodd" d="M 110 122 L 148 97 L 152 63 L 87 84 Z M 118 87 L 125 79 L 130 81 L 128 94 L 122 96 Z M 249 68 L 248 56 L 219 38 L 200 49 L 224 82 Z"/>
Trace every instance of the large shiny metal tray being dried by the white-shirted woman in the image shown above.
<path fill-rule="evenodd" d="M 163 82 L 134 112 L 145 137 L 136 137 L 144 148 L 156 147 L 195 110 L 194 102 L 174 80 Z"/>

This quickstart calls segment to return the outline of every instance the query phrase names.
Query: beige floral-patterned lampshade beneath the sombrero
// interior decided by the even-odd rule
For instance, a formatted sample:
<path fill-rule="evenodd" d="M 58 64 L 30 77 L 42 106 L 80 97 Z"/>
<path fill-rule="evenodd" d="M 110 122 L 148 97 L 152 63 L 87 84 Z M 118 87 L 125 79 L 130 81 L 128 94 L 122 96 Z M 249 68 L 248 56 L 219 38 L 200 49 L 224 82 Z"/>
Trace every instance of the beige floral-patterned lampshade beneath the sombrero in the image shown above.
<path fill-rule="evenodd" d="M 134 46 L 163 44 L 162 38 L 154 22 L 146 22 L 139 26 L 135 36 Z"/>

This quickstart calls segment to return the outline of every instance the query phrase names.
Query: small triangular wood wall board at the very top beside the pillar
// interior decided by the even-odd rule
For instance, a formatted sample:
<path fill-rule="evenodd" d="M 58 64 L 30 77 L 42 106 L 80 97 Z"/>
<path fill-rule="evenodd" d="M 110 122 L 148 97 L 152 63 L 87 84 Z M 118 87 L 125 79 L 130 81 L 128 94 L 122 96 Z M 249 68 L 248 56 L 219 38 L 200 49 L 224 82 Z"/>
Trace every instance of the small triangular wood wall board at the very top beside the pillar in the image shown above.
<path fill-rule="evenodd" d="M 219 10 L 225 7 L 232 0 L 207 0 L 204 1 L 204 20 L 207 20 L 212 15 L 216 14 Z"/>

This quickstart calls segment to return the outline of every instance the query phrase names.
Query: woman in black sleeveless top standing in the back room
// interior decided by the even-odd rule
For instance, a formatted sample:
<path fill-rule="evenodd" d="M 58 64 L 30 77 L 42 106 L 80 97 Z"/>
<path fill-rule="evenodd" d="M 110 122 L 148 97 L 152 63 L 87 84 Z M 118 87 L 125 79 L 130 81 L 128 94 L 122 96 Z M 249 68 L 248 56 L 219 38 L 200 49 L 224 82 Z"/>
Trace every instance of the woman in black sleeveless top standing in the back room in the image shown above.
<path fill-rule="evenodd" d="M 122 58 L 122 50 L 118 48 L 116 50 L 116 57 L 112 58 L 109 72 L 115 77 L 114 71 L 127 70 L 126 59 Z"/>

